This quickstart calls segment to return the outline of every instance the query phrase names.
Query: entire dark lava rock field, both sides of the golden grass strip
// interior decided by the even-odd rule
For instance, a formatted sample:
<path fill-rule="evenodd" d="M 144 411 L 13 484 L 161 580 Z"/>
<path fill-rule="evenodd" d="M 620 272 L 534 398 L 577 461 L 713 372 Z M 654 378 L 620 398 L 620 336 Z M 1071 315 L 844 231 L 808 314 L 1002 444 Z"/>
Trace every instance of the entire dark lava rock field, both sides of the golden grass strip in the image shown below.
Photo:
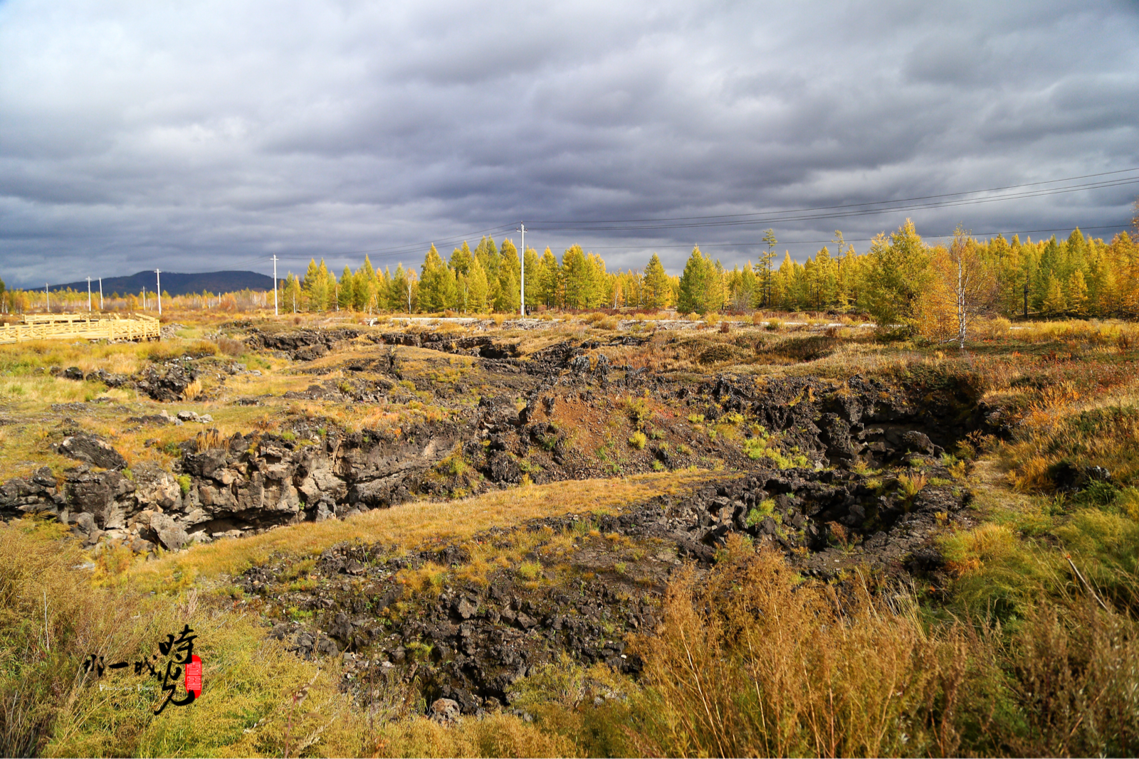
<path fill-rule="evenodd" d="M 243 363 L 185 355 L 132 376 L 62 369 L 52 373 L 93 374 L 164 404 L 124 416 L 124 429 L 189 428 L 169 467 L 128 468 L 114 440 L 71 419 L 79 409 L 56 409 L 51 445 L 75 465 L 9 479 L 0 515 L 49 514 L 95 552 L 148 554 L 521 482 L 710 470 L 690 494 L 620 513 L 542 519 L 412 553 L 341 544 L 304 567 L 281 558 L 236 578 L 271 635 L 300 655 L 345 652 L 345 688 L 413 682 L 428 702 L 450 699 L 466 713 L 508 703 L 517 678 L 564 654 L 636 675 L 625 636 L 652 630 L 670 577 L 710 566 L 732 535 L 778 546 L 804 575 L 841 580 L 862 567 L 882 583 L 912 576 L 936 586 L 932 537 L 969 519 L 961 470 L 942 454 L 968 435 L 1001 431 L 1000 412 L 960 379 L 757 377 L 731 370 L 749 349 L 738 340 L 703 348 L 704 371 L 661 373 L 639 357 L 681 338 L 616 333 L 531 349 L 462 332 L 232 329 L 246 349 L 309 378 L 303 390 L 233 397 L 233 406 L 285 399 L 420 413 L 355 430 L 292 415 L 276 429 L 223 435 L 179 404 L 204 372 L 218 377 L 221 397 L 227 377 L 251 372 Z M 808 337 L 795 350 L 811 361 L 833 340 Z M 519 545 L 521 560 L 494 560 Z"/>

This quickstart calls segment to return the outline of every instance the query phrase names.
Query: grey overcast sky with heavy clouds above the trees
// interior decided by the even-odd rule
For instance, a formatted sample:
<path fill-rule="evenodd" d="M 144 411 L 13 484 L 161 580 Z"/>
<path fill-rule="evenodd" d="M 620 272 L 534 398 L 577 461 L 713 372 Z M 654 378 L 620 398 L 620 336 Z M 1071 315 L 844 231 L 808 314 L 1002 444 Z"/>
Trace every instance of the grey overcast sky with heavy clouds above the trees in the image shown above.
<path fill-rule="evenodd" d="M 672 272 L 767 226 L 1109 238 L 1139 184 L 763 220 L 1139 168 L 1137 41 L 1133 1 L 0 0 L 0 277 L 418 266 L 519 221 Z"/>

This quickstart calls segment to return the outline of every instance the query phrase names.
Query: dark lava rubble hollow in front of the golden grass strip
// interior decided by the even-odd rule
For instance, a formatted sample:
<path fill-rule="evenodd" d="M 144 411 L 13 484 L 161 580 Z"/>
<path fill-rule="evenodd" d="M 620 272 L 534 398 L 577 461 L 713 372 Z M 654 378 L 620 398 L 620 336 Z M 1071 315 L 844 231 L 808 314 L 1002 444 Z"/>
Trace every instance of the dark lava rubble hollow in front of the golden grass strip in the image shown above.
<path fill-rule="evenodd" d="M 884 584 L 935 577 L 941 558 L 931 537 L 968 519 L 967 493 L 932 460 L 923 468 L 935 484 L 913 497 L 851 472 L 760 470 L 621 514 L 535 520 L 516 528 L 538 536 L 526 561 L 425 592 L 408 589 L 408 570 L 433 563 L 461 576 L 472 562 L 464 545 L 392 556 L 383 543 L 339 544 L 306 570 L 303 589 L 289 589 L 293 562 L 251 569 L 239 584 L 274 620 L 271 635 L 301 655 L 347 651 L 346 688 L 418 678 L 428 701 L 451 699 L 476 713 L 507 703 L 516 679 L 564 653 L 636 674 L 625 636 L 652 630 L 673 572 L 707 568 L 732 534 L 777 544 L 812 577 L 854 568 Z M 511 536 L 474 543 L 509 545 Z"/>

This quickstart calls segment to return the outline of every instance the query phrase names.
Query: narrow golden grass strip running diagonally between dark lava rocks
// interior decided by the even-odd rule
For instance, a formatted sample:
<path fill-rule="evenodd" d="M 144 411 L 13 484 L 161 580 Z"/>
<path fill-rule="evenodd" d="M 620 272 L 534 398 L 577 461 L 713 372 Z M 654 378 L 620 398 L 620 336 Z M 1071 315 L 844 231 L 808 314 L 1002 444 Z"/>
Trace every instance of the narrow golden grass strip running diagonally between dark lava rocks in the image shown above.
<path fill-rule="evenodd" d="M 158 561 L 136 564 L 130 576 L 140 587 L 169 589 L 172 577 L 186 585 L 197 577 L 236 575 L 274 553 L 313 554 L 342 541 L 384 541 L 403 550 L 424 548 L 464 541 L 491 527 L 515 526 L 541 517 L 616 511 L 654 495 L 679 493 L 711 476 L 706 471 L 688 471 L 552 482 L 461 501 L 377 509 L 349 520 L 305 522 L 241 539 L 196 546 Z"/>

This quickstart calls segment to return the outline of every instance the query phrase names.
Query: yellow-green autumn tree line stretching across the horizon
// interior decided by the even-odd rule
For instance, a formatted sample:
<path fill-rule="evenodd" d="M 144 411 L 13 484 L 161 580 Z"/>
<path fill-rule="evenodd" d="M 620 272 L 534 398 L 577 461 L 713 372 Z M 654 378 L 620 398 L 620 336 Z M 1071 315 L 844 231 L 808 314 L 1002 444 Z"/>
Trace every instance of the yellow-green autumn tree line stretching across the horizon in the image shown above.
<path fill-rule="evenodd" d="M 285 312 L 515 313 L 524 258 L 527 308 L 674 307 L 681 314 L 700 315 L 756 308 L 820 311 L 868 314 L 879 324 L 908 329 L 958 323 L 959 313 L 952 319 L 944 314 L 962 308 L 1008 316 L 1139 317 L 1139 246 L 1125 232 L 1105 241 L 1076 229 L 1066 239 L 1022 241 L 1017 236 L 980 240 L 958 230 L 947 247 L 926 244 L 907 220 L 893 233 L 879 233 L 862 253 L 838 231 L 830 245 L 802 262 L 785 251 L 776 265 L 777 246 L 775 231 L 768 230 L 757 262 L 731 270 L 695 247 L 683 271 L 670 275 L 655 253 L 644 270 L 611 272 L 599 255 L 579 245 L 559 259 L 550 248 L 541 255 L 526 248 L 519 255 L 513 240 L 497 244 L 484 237 L 474 249 L 464 242 L 446 259 L 431 246 L 418 271 L 402 263 L 394 272 L 380 270 L 364 257 L 358 269 L 345 266 L 337 277 L 323 259 L 311 259 L 303 277 L 290 272 L 285 278 L 278 302 Z M 271 302 L 243 295 L 233 299 L 238 307 Z M 52 306 L 82 307 L 85 296 L 52 292 Z M 959 303 L 950 308 L 954 298 Z M 42 300 L 42 291 L 6 290 L 0 284 L 5 312 L 36 307 Z M 222 296 L 202 294 L 182 300 L 177 305 L 208 308 L 221 305 Z M 140 302 L 133 295 L 109 298 L 128 310 Z"/>

